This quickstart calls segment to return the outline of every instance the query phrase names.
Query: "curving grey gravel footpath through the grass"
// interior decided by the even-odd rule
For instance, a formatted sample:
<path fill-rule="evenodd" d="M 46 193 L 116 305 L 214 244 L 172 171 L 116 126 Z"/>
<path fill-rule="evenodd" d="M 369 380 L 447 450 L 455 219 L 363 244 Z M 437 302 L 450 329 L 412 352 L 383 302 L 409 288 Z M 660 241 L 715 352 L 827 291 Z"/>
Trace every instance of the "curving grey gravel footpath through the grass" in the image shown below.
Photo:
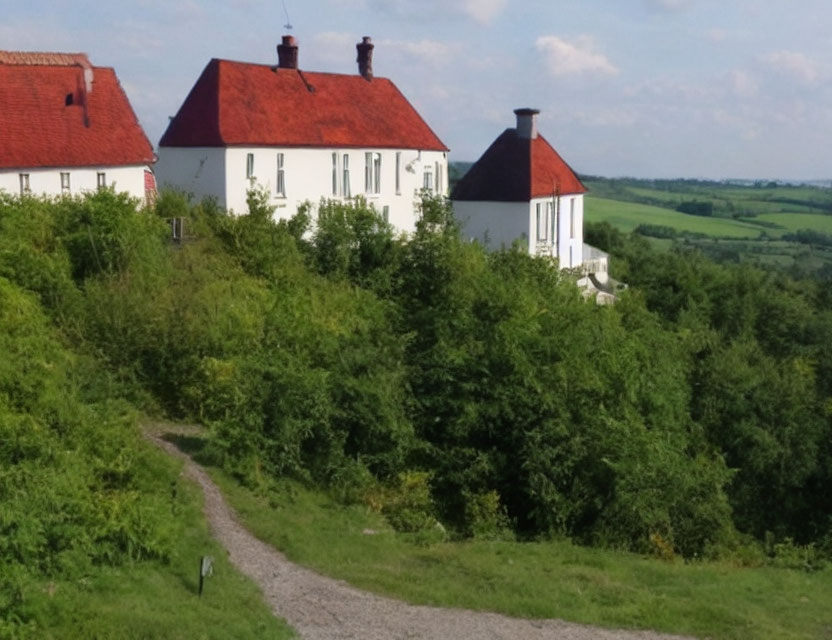
<path fill-rule="evenodd" d="M 187 428 L 186 428 L 187 429 Z M 262 589 L 275 615 L 306 640 L 659 640 L 679 638 L 650 631 L 614 631 L 560 620 L 416 606 L 360 591 L 289 562 L 237 520 L 208 474 L 165 433 L 188 434 L 178 425 L 146 426 L 148 438 L 185 462 L 183 473 L 205 494 L 205 515 L 234 566 Z M 191 430 L 190 433 L 193 433 Z"/>

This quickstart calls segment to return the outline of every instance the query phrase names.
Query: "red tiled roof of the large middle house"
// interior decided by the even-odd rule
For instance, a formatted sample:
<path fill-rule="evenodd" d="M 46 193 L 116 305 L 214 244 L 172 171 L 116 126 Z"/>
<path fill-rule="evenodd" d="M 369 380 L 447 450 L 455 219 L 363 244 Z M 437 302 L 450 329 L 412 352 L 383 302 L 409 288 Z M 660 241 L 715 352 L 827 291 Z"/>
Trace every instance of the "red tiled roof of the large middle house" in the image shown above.
<path fill-rule="evenodd" d="M 163 147 L 363 147 L 447 151 L 390 80 L 213 59 Z"/>

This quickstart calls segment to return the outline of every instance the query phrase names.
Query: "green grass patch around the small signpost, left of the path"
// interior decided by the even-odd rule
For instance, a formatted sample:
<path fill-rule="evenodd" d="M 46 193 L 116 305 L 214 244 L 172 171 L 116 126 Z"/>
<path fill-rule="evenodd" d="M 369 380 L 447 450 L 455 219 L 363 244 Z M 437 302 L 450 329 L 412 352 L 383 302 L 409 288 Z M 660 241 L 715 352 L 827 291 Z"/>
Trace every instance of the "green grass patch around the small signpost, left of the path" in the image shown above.
<path fill-rule="evenodd" d="M 151 446 L 151 445 L 147 445 Z M 155 453 L 176 478 L 181 464 Z M 73 581 L 40 581 L 26 589 L 32 637 L 130 640 L 144 638 L 274 639 L 295 637 L 275 618 L 257 587 L 229 563 L 208 532 L 202 493 L 177 481 L 177 515 L 185 526 L 169 563 L 100 567 Z M 198 596 L 202 555 L 214 559 L 214 575 Z"/>

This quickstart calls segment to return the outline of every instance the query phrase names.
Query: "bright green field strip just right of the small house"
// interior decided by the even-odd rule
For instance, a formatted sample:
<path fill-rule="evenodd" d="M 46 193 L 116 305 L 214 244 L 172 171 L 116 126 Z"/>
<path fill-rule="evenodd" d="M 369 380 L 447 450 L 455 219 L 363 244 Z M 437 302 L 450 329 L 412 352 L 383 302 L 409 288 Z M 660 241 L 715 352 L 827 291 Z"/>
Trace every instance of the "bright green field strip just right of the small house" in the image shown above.
<path fill-rule="evenodd" d="M 720 238 L 756 238 L 762 230 L 759 226 L 729 218 L 691 216 L 662 207 L 594 196 L 586 197 L 584 208 L 587 222 L 609 222 L 625 232 L 640 224 L 654 224 Z"/>

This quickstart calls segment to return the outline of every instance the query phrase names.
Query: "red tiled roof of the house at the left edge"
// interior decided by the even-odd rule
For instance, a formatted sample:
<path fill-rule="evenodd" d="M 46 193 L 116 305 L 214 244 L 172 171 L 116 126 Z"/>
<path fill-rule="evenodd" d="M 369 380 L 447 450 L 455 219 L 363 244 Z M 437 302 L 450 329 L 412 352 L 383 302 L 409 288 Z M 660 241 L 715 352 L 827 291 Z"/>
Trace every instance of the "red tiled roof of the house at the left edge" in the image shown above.
<path fill-rule="evenodd" d="M 0 169 L 153 161 L 113 69 L 84 54 L 0 51 Z"/>

